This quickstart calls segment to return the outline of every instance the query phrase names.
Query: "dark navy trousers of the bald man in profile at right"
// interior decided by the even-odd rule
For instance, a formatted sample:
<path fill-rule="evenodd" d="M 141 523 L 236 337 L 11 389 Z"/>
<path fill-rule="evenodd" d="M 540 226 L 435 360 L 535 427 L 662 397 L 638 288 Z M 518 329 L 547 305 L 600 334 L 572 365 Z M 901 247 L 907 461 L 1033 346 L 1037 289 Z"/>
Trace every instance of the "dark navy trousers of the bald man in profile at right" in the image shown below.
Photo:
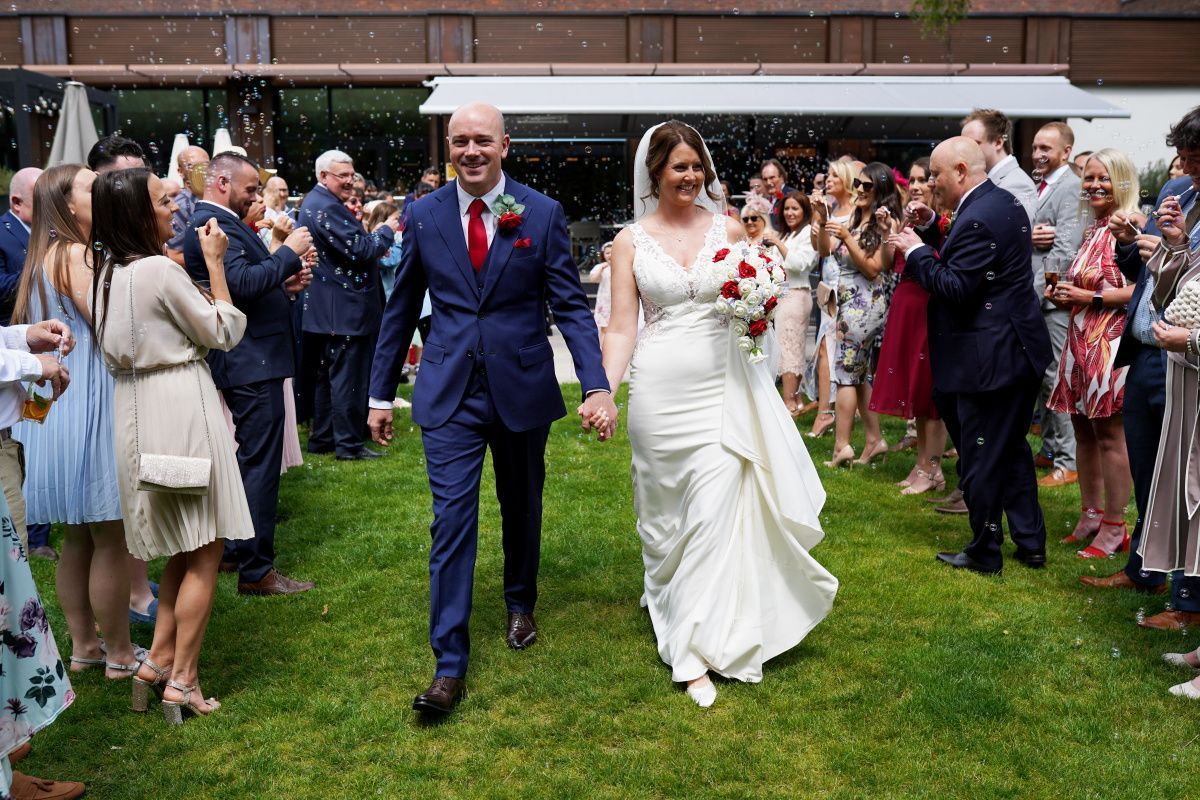
<path fill-rule="evenodd" d="M 971 543 L 962 551 L 989 567 L 1000 569 L 1003 563 L 1003 517 L 1018 547 L 1045 548 L 1033 452 L 1025 439 L 1039 383 L 1031 375 L 988 392 L 935 392 L 937 410 L 959 451 L 959 488 L 971 519 Z"/>

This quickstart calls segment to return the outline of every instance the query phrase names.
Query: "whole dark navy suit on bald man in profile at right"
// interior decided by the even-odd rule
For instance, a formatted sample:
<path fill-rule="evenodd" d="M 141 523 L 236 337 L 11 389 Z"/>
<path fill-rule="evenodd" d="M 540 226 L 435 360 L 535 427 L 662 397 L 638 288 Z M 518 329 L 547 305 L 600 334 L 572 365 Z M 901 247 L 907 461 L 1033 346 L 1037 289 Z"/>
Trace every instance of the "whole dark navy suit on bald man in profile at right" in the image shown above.
<path fill-rule="evenodd" d="M 1045 548 L 1025 434 L 1051 356 L 1030 272 L 1028 224 L 1025 206 L 985 180 L 960 205 L 941 255 L 920 247 L 905 266 L 930 293 L 934 389 L 959 451 L 973 533 L 964 552 L 994 569 L 1002 564 L 1002 516 L 1019 547 Z"/>

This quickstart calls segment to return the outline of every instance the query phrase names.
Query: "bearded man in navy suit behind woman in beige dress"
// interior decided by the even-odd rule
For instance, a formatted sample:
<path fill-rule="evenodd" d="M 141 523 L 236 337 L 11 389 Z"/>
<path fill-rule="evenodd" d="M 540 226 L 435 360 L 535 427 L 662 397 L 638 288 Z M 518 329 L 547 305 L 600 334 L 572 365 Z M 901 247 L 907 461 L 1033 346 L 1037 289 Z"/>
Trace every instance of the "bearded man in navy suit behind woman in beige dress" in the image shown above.
<path fill-rule="evenodd" d="M 238 564 L 238 591 L 244 595 L 289 595 L 313 584 L 293 581 L 275 569 L 275 513 L 283 459 L 283 380 L 295 372 L 292 294 L 300 290 L 301 257 L 312 235 L 298 228 L 272 255 L 242 217 L 258 194 L 258 166 L 230 152 L 209 166 L 204 199 L 182 237 L 184 259 L 196 281 L 209 272 L 198 227 L 209 219 L 229 239 L 224 273 L 229 296 L 246 314 L 246 335 L 229 351 L 209 351 L 212 383 L 233 415 L 241 470 L 254 537 L 226 541 L 226 561 Z M 289 291 L 292 294 L 289 294 Z"/>

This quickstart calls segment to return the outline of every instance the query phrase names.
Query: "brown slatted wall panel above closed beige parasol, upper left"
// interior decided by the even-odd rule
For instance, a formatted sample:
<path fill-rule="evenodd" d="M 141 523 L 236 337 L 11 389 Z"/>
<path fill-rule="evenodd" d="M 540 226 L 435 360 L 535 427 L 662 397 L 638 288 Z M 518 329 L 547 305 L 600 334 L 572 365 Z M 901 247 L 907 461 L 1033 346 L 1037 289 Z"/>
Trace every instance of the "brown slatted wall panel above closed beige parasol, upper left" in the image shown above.
<path fill-rule="evenodd" d="M 222 17 L 72 17 L 71 64 L 224 64 Z"/>

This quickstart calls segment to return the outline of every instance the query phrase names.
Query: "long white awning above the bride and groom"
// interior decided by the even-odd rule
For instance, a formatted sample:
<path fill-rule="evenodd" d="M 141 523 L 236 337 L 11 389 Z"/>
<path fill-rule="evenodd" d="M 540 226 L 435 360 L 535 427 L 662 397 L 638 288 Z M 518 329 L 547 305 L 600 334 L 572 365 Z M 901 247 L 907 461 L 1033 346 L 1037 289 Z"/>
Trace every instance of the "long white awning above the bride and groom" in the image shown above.
<path fill-rule="evenodd" d="M 769 114 L 960 118 L 1128 118 L 1063 77 L 514 76 L 439 77 L 421 114 L 486 101 L 505 114 Z"/>

